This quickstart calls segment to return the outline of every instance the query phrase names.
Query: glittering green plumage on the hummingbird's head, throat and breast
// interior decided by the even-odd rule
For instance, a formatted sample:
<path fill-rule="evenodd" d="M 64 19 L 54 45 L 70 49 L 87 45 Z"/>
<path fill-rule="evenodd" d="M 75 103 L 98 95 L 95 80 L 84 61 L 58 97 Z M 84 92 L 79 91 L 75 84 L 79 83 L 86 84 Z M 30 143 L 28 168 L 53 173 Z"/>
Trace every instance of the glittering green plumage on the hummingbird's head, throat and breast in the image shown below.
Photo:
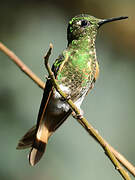
<path fill-rule="evenodd" d="M 69 46 L 62 58 L 54 63 L 58 83 L 70 89 L 73 101 L 88 91 L 96 73 L 95 38 L 98 24 L 95 26 L 94 23 L 100 20 L 92 21 L 92 18 L 88 15 L 76 16 L 69 22 Z"/>

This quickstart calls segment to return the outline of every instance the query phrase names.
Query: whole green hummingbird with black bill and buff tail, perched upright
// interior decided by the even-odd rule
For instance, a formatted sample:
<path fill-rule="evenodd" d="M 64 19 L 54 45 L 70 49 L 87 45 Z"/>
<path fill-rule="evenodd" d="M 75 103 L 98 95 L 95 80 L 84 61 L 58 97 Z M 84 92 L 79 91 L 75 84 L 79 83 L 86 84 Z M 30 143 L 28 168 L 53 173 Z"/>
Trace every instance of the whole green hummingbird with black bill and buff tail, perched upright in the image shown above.
<path fill-rule="evenodd" d="M 84 97 L 94 87 L 99 75 L 95 40 L 98 29 L 106 23 L 127 16 L 98 19 L 88 14 L 73 17 L 67 28 L 67 48 L 55 60 L 52 71 L 61 90 L 80 109 Z M 66 58 L 67 57 L 67 58 Z M 29 163 L 34 166 L 43 156 L 48 139 L 72 114 L 72 109 L 55 90 L 48 78 L 37 124 L 19 141 L 17 149 L 31 148 Z"/>

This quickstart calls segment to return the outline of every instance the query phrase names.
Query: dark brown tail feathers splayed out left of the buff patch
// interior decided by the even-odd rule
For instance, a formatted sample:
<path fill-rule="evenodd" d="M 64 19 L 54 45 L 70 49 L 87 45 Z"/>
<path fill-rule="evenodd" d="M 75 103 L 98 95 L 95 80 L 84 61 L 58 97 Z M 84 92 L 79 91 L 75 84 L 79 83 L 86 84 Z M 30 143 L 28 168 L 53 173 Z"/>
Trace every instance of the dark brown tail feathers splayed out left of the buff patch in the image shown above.
<path fill-rule="evenodd" d="M 32 147 L 36 135 L 36 126 L 33 126 L 20 140 L 16 149 L 26 149 Z"/>

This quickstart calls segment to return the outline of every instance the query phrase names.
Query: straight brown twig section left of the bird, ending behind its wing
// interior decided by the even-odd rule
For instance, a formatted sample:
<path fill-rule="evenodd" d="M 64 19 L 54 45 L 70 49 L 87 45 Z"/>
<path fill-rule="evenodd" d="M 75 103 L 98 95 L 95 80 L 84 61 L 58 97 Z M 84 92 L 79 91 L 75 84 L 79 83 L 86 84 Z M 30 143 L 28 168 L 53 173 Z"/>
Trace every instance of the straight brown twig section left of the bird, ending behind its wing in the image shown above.
<path fill-rule="evenodd" d="M 0 50 L 3 51 L 27 76 L 29 76 L 40 88 L 45 88 L 45 83 L 36 76 L 13 51 L 0 42 Z"/>

